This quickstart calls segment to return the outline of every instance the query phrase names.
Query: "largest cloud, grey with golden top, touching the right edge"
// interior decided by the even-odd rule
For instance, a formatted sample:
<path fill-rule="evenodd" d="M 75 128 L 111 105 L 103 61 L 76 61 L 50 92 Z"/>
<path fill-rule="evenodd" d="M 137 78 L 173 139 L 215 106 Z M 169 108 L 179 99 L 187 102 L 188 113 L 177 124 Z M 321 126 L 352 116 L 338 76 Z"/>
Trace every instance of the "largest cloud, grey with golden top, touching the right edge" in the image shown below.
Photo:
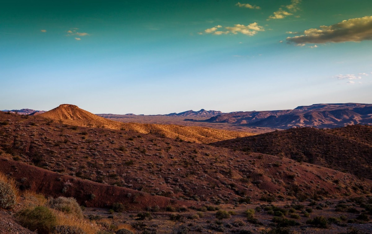
<path fill-rule="evenodd" d="M 339 43 L 372 40 L 372 16 L 343 20 L 331 26 L 305 30 L 303 35 L 287 37 L 291 43 Z"/>

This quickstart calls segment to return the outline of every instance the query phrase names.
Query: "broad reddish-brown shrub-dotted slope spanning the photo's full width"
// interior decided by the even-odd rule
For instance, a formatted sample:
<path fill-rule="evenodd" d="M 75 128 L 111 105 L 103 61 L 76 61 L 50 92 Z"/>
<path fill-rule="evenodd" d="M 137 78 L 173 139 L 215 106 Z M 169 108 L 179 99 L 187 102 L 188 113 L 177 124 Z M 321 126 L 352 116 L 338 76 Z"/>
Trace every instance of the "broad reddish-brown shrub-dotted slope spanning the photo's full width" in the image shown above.
<path fill-rule="evenodd" d="M 10 161 L 180 201 L 219 204 L 268 194 L 304 198 L 371 191 L 369 180 L 278 156 L 6 113 L 0 122 L 0 153 Z M 36 176 L 39 172 L 28 181 Z"/>

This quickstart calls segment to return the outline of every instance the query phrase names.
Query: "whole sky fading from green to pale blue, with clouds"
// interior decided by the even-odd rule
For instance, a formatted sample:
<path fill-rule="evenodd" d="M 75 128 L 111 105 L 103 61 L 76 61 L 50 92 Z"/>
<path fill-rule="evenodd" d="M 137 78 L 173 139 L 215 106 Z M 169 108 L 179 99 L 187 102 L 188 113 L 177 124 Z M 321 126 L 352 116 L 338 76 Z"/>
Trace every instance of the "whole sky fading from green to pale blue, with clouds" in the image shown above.
<path fill-rule="evenodd" d="M 0 2 L 0 110 L 372 103 L 371 0 Z"/>

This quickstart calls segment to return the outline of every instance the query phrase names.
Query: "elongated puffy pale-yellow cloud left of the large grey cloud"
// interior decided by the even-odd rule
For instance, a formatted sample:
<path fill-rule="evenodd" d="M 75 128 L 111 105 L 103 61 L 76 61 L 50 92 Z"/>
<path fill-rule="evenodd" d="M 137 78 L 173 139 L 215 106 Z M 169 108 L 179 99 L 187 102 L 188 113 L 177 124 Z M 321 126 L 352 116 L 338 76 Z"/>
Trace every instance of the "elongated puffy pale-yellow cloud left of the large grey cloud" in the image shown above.
<path fill-rule="evenodd" d="M 204 30 L 205 33 L 213 33 L 215 35 L 222 35 L 222 34 L 244 34 L 248 36 L 253 36 L 258 31 L 264 31 L 264 28 L 262 26 L 259 26 L 257 23 L 251 23 L 248 25 L 243 24 L 235 24 L 233 27 L 225 27 L 226 31 L 217 31 L 217 29 L 222 28 L 221 25 L 217 25 L 215 27 L 212 27 L 210 29 Z"/>

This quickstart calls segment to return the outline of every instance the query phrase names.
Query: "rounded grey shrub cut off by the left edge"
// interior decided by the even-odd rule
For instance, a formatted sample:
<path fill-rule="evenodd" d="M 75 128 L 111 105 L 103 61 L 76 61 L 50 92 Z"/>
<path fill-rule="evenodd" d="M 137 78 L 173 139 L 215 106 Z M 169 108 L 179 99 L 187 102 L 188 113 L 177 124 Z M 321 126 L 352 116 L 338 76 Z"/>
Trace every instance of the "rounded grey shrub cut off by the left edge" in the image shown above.
<path fill-rule="evenodd" d="M 17 202 L 16 182 L 0 172 L 0 208 L 12 209 Z"/>

